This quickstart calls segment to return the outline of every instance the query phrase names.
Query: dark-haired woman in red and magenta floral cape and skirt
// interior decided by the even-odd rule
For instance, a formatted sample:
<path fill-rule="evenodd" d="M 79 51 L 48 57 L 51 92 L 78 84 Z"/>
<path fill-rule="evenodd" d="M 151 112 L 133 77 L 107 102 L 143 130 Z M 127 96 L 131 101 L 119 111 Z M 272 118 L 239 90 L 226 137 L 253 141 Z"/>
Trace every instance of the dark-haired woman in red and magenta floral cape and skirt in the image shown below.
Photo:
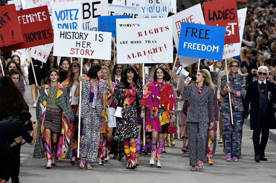
<path fill-rule="evenodd" d="M 168 131 L 171 119 L 175 120 L 174 92 L 171 85 L 166 83 L 170 79 L 169 73 L 162 67 L 158 67 L 154 73 L 153 81 L 147 85 L 141 102 L 141 118 L 144 117 L 144 109 L 147 106 L 145 129 L 147 132 L 152 132 L 150 165 L 156 164 L 157 168 L 161 168 L 164 134 Z M 156 147 L 157 139 L 158 147 Z"/>

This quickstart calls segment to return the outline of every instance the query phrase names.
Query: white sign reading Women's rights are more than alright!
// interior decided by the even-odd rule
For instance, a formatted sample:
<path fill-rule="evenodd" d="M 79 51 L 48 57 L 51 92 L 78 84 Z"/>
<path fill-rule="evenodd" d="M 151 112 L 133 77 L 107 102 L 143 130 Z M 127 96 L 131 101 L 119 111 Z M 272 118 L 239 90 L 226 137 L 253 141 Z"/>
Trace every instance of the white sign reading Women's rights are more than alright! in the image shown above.
<path fill-rule="evenodd" d="M 172 18 L 116 19 L 117 63 L 173 62 Z"/>

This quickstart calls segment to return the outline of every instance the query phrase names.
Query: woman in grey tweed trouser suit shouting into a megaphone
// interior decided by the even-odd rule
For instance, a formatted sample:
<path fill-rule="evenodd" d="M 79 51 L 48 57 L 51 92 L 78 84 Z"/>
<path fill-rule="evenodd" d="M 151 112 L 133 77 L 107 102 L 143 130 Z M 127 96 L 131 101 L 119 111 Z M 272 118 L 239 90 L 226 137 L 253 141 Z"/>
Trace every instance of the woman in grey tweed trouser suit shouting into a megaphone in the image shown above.
<path fill-rule="evenodd" d="M 189 158 L 191 171 L 204 169 L 205 160 L 205 140 L 208 129 L 208 109 L 211 117 L 210 128 L 214 126 L 214 104 L 213 96 L 215 85 L 212 82 L 211 74 L 208 70 L 202 69 L 197 73 L 195 84 L 184 86 L 182 100 L 189 100 L 190 106 L 187 112 L 187 129 Z"/>

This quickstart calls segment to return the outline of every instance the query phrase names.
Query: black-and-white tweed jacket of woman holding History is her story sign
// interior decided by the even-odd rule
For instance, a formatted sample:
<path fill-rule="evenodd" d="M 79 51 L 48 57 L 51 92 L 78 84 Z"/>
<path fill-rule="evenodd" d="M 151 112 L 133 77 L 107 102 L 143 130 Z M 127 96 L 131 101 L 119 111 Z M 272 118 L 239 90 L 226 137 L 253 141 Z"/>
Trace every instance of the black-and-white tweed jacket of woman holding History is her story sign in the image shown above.
<path fill-rule="evenodd" d="M 90 99 L 90 82 L 91 79 L 89 77 L 83 79 L 81 86 L 81 118 L 87 117 L 87 114 L 92 114 L 92 102 L 89 102 Z M 102 79 L 98 79 L 99 87 L 99 95 L 97 95 L 96 99 L 96 111 L 97 115 L 100 116 L 102 113 L 103 105 L 102 105 L 102 96 L 106 94 L 106 82 Z M 76 113 L 76 116 L 79 117 L 79 107 Z"/>

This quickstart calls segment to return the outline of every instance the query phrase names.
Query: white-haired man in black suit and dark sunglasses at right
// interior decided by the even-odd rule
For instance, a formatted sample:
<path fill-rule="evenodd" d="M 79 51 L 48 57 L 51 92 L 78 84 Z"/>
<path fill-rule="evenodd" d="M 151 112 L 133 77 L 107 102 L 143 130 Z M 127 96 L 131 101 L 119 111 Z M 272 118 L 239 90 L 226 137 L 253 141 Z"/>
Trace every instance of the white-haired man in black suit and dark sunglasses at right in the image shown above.
<path fill-rule="evenodd" d="M 272 103 L 276 103 L 275 84 L 267 81 L 268 68 L 258 68 L 259 79 L 250 82 L 243 103 L 244 118 L 248 117 L 250 103 L 250 129 L 253 130 L 255 161 L 267 161 L 264 155 L 269 129 L 276 128 L 276 118 Z M 260 133 L 262 132 L 261 143 Z"/>

